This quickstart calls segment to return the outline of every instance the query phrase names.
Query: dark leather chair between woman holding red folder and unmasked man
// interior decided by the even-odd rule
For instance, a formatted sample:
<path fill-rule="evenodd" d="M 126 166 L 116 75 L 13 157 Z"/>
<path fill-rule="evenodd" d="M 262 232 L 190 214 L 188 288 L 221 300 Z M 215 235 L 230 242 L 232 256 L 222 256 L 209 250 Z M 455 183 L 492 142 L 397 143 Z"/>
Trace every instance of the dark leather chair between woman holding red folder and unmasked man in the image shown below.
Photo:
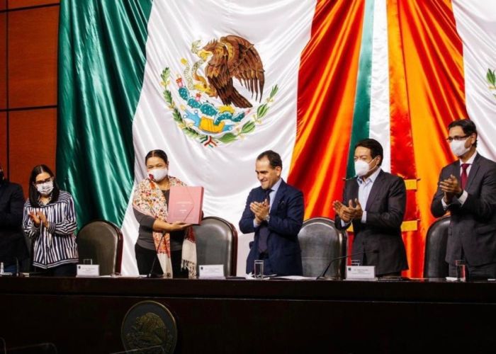
<path fill-rule="evenodd" d="M 194 227 L 197 264 L 223 264 L 226 276 L 236 275 L 237 231 L 220 217 L 204 217 Z M 199 272 L 198 272 L 199 274 Z"/>

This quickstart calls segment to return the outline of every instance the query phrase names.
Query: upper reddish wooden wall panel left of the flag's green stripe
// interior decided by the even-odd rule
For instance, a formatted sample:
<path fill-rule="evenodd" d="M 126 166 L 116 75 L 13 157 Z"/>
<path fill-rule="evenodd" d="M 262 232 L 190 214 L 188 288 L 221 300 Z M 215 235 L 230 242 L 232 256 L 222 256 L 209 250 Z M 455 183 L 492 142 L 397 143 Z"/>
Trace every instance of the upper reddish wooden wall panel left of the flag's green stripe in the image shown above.
<path fill-rule="evenodd" d="M 9 12 L 10 108 L 57 104 L 59 6 Z"/>

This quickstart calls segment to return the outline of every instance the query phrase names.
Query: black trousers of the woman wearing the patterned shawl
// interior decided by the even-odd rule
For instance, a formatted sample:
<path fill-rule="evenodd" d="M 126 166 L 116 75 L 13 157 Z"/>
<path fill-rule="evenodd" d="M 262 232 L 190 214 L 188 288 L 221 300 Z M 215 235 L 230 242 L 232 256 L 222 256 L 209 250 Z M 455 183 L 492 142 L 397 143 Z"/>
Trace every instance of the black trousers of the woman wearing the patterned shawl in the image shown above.
<path fill-rule="evenodd" d="M 140 274 L 146 275 L 150 273 L 150 270 L 153 274 L 164 274 L 162 267 L 160 266 L 159 258 L 157 257 L 156 251 L 152 249 L 144 249 L 142 246 L 135 244 L 135 253 L 137 270 L 140 272 Z M 188 278 L 188 270 L 181 269 L 181 257 L 181 250 L 171 252 L 172 276 L 174 278 Z M 154 260 L 155 263 L 153 263 Z"/>

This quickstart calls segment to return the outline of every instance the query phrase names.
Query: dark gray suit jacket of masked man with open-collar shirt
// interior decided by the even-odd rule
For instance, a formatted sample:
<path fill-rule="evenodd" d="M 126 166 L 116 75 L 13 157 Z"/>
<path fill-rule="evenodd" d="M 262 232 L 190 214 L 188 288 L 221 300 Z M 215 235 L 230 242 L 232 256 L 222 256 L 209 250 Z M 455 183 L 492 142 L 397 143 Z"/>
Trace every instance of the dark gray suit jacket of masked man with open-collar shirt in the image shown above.
<path fill-rule="evenodd" d="M 359 184 L 356 178 L 346 181 L 343 203 L 359 198 Z M 376 274 L 396 273 L 408 269 L 407 253 L 401 237 L 401 223 L 405 215 L 407 193 L 402 178 L 381 171 L 368 195 L 366 223 L 353 221 L 353 253 L 366 253 L 361 258 L 362 265 L 376 265 Z M 363 205 L 362 205 L 363 207 Z M 341 219 L 336 215 L 336 227 L 342 228 Z M 366 259 L 366 263 L 363 260 Z"/>

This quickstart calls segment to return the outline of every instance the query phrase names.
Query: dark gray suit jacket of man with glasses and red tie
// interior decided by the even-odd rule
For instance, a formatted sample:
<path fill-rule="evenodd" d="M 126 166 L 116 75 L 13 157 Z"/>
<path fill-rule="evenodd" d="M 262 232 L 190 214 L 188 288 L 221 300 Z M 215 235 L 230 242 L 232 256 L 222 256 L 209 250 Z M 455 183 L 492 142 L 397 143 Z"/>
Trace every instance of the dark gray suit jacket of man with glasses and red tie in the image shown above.
<path fill-rule="evenodd" d="M 450 175 L 460 181 L 460 162 L 455 161 L 441 170 L 439 182 Z M 439 185 L 439 183 L 438 183 Z M 454 264 L 461 259 L 462 250 L 469 265 L 496 262 L 496 163 L 480 154 L 475 156 L 468 173 L 465 190 L 468 198 L 460 205 L 458 200 L 444 210 L 444 193 L 438 187 L 432 199 L 431 212 L 441 217 L 451 212 L 448 230 L 446 262 Z"/>

